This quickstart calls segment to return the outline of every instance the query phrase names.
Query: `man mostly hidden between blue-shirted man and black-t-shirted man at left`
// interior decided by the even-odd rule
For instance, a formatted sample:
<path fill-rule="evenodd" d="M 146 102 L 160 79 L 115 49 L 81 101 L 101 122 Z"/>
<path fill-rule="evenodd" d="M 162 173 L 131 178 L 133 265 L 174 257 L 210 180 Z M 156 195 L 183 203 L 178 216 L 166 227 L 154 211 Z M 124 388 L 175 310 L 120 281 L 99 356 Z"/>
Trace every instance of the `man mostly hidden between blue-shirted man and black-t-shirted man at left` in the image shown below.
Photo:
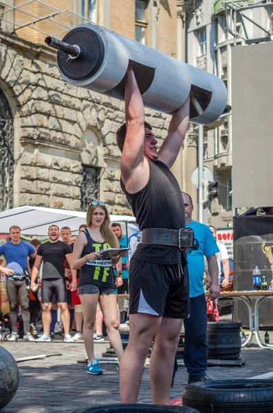
<path fill-rule="evenodd" d="M 34 246 L 34 248 L 38 249 L 38 247 L 42 244 L 41 241 L 37 240 L 36 238 L 34 238 L 34 240 L 30 241 L 30 244 L 32 244 Z M 30 267 L 30 274 L 32 272 L 32 268 L 34 266 L 34 262 L 35 259 L 32 257 L 29 257 L 29 261 L 28 261 L 28 265 Z M 41 289 L 41 278 L 40 276 L 38 277 L 38 288 L 36 291 L 29 291 L 29 297 L 30 297 L 30 332 L 32 333 L 32 337 L 34 337 L 35 339 L 38 338 L 37 336 L 37 330 L 36 330 L 36 323 L 37 323 L 37 319 L 41 310 L 41 302 L 39 300 L 39 290 Z"/>

